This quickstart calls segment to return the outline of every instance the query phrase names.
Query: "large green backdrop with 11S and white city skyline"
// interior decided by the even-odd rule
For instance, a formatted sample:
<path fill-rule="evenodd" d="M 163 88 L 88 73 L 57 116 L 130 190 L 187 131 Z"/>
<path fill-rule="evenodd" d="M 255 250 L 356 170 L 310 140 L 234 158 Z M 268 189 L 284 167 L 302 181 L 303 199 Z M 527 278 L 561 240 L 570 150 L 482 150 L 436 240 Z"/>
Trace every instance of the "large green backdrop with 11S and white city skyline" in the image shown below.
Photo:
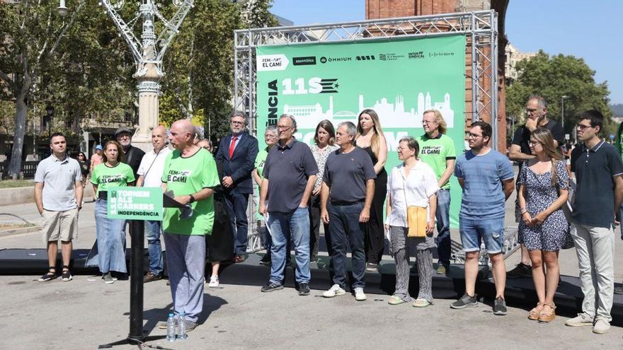
<path fill-rule="evenodd" d="M 297 139 L 314 142 L 323 119 L 357 124 L 361 110 L 380 118 L 389 150 L 387 172 L 399 163 L 403 136 L 423 134 L 422 113 L 444 116 L 457 153 L 464 149 L 465 37 L 375 40 L 293 46 L 257 51 L 258 139 L 282 113 L 297 120 Z M 460 189 L 452 177 L 452 227 L 458 226 Z"/>

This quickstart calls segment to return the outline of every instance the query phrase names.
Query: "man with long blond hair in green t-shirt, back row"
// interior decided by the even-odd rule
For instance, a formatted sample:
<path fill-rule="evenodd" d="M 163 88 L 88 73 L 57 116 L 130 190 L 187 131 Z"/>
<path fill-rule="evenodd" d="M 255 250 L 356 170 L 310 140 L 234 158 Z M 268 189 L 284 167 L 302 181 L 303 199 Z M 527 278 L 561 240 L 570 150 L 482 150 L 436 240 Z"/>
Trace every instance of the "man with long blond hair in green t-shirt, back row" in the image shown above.
<path fill-rule="evenodd" d="M 445 120 L 438 110 L 426 110 L 423 113 L 424 132 L 418 137 L 420 159 L 430 165 L 437 175 L 439 192 L 437 192 L 437 251 L 439 263 L 438 274 L 446 274 L 450 267 L 450 176 L 455 171 L 457 153 L 450 136 L 445 134 Z"/>

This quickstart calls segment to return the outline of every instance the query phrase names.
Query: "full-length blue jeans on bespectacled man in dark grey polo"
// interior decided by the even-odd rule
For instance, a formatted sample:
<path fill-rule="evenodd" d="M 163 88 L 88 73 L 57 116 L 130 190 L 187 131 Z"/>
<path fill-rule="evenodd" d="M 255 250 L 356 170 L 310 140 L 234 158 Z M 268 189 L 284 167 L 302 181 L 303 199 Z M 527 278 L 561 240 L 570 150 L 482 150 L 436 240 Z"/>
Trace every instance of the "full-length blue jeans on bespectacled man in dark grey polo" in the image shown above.
<path fill-rule="evenodd" d="M 270 227 L 272 244 L 270 246 L 270 281 L 283 284 L 283 271 L 285 270 L 285 255 L 287 242 L 292 239 L 295 244 L 295 259 L 297 269 L 295 279 L 297 283 L 309 283 L 309 209 L 298 208 L 290 213 L 271 211 L 266 221 Z"/>

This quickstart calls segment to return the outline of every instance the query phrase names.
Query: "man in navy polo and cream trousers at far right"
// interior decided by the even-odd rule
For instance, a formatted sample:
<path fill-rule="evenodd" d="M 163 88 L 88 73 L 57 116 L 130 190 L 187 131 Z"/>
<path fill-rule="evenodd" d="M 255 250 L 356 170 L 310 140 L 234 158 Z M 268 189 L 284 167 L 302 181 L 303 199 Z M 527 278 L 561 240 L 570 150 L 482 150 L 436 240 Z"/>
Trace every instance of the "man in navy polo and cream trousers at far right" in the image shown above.
<path fill-rule="evenodd" d="M 593 333 L 605 334 L 612 320 L 614 226 L 623 202 L 623 164 L 617 148 L 600 139 L 603 115 L 598 110 L 583 112 L 577 128 L 583 144 L 571 152 L 571 171 L 577 180 L 571 237 L 576 243 L 584 301 L 582 313 L 565 325 L 593 326 Z"/>

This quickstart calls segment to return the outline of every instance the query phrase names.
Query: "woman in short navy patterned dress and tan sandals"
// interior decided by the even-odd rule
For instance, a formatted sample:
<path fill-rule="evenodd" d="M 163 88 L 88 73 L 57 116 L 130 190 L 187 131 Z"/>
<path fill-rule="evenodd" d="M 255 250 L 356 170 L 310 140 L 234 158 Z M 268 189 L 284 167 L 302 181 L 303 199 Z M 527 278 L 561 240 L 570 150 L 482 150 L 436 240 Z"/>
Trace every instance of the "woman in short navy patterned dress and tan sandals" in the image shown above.
<path fill-rule="evenodd" d="M 519 240 L 530 254 L 539 302 L 528 318 L 551 322 L 556 317 L 558 252 L 572 246 L 569 224 L 561 209 L 568 197 L 569 175 L 548 129 L 535 129 L 529 146 L 535 158 L 525 161 L 518 177 Z"/>

